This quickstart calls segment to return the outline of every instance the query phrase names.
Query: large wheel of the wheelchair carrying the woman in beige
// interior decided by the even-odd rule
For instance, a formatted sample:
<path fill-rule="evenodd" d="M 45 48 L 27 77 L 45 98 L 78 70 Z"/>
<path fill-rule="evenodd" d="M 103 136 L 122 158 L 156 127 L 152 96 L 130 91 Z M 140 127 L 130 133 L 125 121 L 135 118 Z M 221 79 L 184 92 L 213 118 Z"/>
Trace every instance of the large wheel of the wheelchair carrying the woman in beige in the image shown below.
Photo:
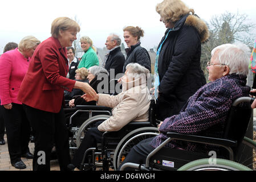
<path fill-rule="evenodd" d="M 125 135 L 125 137 L 120 140 L 113 155 L 113 166 L 115 171 L 123 162 L 125 156 L 129 153 L 133 146 L 135 146 L 141 140 L 155 137 L 158 134 L 159 130 L 156 127 L 142 127 Z"/>

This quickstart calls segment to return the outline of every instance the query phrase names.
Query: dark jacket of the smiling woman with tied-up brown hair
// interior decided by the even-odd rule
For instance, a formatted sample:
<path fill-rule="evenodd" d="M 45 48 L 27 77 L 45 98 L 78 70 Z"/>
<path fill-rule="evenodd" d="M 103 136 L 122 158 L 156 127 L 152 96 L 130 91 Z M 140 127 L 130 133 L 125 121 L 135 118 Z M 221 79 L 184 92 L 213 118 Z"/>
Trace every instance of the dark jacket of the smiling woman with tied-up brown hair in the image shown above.
<path fill-rule="evenodd" d="M 126 48 L 127 57 L 124 63 L 123 73 L 126 71 L 125 67 L 129 63 L 139 63 L 143 67 L 147 68 L 151 72 L 151 59 L 148 51 L 140 46 L 140 42 L 131 48 Z"/>

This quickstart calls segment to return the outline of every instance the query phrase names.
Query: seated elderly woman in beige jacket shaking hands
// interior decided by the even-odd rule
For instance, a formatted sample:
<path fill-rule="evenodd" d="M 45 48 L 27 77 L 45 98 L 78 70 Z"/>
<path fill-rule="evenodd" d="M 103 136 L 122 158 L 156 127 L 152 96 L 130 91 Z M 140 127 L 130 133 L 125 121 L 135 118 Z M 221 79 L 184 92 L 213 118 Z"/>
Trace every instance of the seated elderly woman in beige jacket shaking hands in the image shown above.
<path fill-rule="evenodd" d="M 94 97 L 88 97 L 84 94 L 83 98 L 87 102 L 96 101 L 98 106 L 113 108 L 112 115 L 105 121 L 97 122 L 87 131 L 74 155 L 72 164 L 68 165 L 69 169 L 80 168 L 84 152 L 88 148 L 96 147 L 97 143 L 101 143 L 101 137 L 105 131 L 119 131 L 131 121 L 148 121 L 151 104 L 151 96 L 147 88 L 149 71 L 137 63 L 128 64 L 126 69 L 124 76 L 119 79 L 123 91 L 117 96 L 96 94 Z M 85 162 L 87 161 L 86 158 Z"/>

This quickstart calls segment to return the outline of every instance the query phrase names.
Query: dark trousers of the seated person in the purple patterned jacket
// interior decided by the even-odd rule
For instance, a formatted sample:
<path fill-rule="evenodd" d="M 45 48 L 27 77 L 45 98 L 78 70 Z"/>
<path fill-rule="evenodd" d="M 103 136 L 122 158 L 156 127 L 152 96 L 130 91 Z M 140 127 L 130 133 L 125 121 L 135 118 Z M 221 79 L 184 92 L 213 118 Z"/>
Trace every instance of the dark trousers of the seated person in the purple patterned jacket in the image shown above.
<path fill-rule="evenodd" d="M 153 138 L 148 138 L 142 140 L 136 146 L 133 146 L 129 154 L 125 157 L 123 163 L 117 169 L 120 170 L 121 166 L 125 163 L 136 163 L 136 164 L 145 164 L 148 154 L 150 154 L 155 148 L 153 148 L 149 143 Z M 133 168 L 125 168 L 125 171 L 134 170 Z"/>

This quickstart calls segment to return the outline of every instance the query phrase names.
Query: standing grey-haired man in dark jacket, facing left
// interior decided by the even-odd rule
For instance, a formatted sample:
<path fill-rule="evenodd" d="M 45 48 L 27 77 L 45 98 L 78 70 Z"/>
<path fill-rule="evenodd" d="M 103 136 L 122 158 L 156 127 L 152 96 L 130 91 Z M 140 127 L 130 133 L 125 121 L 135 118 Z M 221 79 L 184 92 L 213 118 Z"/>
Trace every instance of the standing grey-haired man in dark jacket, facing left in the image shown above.
<path fill-rule="evenodd" d="M 107 71 L 109 72 L 109 81 L 112 80 L 113 82 L 115 82 L 115 85 L 111 83 L 109 84 L 111 87 L 109 92 L 111 94 L 113 94 L 115 90 L 117 80 L 121 77 L 119 73 L 123 73 L 125 57 L 121 52 L 120 44 L 121 39 L 118 35 L 115 34 L 109 35 L 105 43 L 108 51 L 105 54 L 102 67 L 107 69 Z M 113 79 L 116 79 L 116 81 L 114 81 Z M 115 94 L 117 94 L 116 91 Z"/>

